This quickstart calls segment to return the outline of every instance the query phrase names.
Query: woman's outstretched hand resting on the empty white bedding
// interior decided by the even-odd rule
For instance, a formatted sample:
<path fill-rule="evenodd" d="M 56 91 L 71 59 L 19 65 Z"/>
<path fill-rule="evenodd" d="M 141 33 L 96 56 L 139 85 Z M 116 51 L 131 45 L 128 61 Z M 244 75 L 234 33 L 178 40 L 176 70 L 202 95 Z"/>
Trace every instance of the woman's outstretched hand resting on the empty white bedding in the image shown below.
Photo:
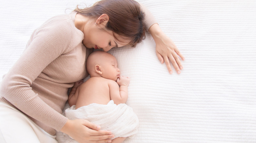
<path fill-rule="evenodd" d="M 158 24 L 153 24 L 148 31 L 156 42 L 156 54 L 160 62 L 165 62 L 166 67 L 171 74 L 172 68 L 169 62 L 170 60 L 176 72 L 180 74 L 180 70 L 183 67 L 179 56 L 182 60 L 185 60 L 185 58 L 182 56 L 174 42 L 162 32 Z"/>

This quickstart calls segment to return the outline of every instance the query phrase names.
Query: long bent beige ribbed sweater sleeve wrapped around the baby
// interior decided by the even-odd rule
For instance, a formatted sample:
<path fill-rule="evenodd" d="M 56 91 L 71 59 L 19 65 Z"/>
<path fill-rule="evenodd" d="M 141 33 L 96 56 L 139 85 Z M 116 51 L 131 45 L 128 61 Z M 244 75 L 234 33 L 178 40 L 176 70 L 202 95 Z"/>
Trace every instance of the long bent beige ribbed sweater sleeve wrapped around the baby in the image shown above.
<path fill-rule="evenodd" d="M 55 25 L 55 26 L 49 26 Z M 67 118 L 46 104 L 31 84 L 54 59 L 70 48 L 70 24 L 56 19 L 33 33 L 32 42 L 2 81 L 1 95 L 28 116 L 59 131 Z"/>

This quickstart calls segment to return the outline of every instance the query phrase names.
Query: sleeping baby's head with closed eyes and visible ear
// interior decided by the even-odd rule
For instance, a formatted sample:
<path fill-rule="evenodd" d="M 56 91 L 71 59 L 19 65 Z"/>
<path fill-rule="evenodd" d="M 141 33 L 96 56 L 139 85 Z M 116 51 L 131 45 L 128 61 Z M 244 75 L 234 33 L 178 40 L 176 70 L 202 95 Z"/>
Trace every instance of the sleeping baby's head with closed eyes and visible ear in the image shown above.
<path fill-rule="evenodd" d="M 101 76 L 117 81 L 117 78 L 120 76 L 117 59 L 115 56 L 104 51 L 91 53 L 86 61 L 86 69 L 91 77 Z"/>

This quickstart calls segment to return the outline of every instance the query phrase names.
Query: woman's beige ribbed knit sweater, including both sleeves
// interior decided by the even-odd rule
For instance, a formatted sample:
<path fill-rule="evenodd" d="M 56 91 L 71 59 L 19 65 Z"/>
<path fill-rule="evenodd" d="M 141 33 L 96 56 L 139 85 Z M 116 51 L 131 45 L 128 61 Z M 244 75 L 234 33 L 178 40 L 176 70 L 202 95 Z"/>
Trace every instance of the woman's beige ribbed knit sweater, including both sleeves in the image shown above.
<path fill-rule="evenodd" d="M 156 22 L 142 8 L 149 29 Z M 85 61 L 92 49 L 82 43 L 84 35 L 75 27 L 75 14 L 53 17 L 36 29 L 1 83 L 0 101 L 20 110 L 51 135 L 67 122 L 62 109 L 68 88 L 88 75 Z"/>

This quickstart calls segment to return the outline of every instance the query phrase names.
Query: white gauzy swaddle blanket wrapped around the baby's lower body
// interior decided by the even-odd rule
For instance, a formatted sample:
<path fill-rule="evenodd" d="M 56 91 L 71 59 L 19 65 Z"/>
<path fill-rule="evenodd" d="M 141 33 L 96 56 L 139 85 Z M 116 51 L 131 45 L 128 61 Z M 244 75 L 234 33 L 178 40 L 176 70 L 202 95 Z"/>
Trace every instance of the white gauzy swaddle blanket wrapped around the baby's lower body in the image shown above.
<path fill-rule="evenodd" d="M 115 104 L 113 100 L 107 105 L 92 103 L 75 109 L 75 105 L 65 110 L 68 119 L 86 119 L 100 125 L 101 130 L 111 131 L 116 137 L 133 137 L 138 132 L 139 119 L 133 109 L 126 104 Z M 67 143 L 76 141 L 65 135 Z"/>

